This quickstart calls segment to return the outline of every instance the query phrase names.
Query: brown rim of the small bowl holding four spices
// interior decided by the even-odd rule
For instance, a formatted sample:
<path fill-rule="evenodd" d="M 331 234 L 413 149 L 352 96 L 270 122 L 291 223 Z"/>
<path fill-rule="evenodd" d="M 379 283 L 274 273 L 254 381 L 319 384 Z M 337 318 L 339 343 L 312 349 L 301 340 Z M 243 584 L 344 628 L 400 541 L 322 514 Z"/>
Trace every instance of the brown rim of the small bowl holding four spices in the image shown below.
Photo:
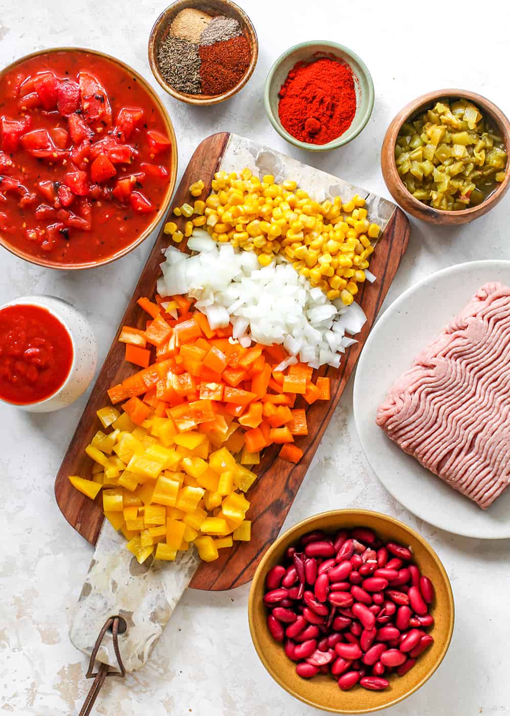
<path fill-rule="evenodd" d="M 169 95 L 174 97 L 175 100 L 180 100 L 180 102 L 186 102 L 187 105 L 195 105 L 197 107 L 200 106 L 208 106 L 208 105 L 218 105 L 220 102 L 225 102 L 225 100 L 229 100 L 230 97 L 233 97 L 234 95 L 237 95 L 237 92 L 242 89 L 242 87 L 245 86 L 247 81 L 250 79 L 250 77 L 253 74 L 253 71 L 255 70 L 255 65 L 258 61 L 258 37 L 257 32 L 255 30 L 255 26 L 253 25 L 250 18 L 247 16 L 245 11 L 240 8 L 239 5 L 235 4 L 232 0 L 228 0 L 226 2 L 225 0 L 215 0 L 218 3 L 225 6 L 225 8 L 232 9 L 237 12 L 242 19 L 242 21 L 245 23 L 245 26 L 247 27 L 248 34 L 250 35 L 250 41 L 251 41 L 251 50 L 252 50 L 252 57 L 250 59 L 250 64 L 248 65 L 248 69 L 246 70 L 245 74 L 241 77 L 239 82 L 234 85 L 231 89 L 227 90 L 227 92 L 222 92 L 221 95 L 188 95 L 186 92 L 180 92 L 178 89 L 174 89 L 170 84 L 167 84 L 165 82 L 165 79 L 163 79 L 162 74 L 160 72 L 160 68 L 157 64 L 156 59 L 156 33 L 157 30 L 160 27 L 160 24 L 162 24 L 163 21 L 165 21 L 167 14 L 170 14 L 170 11 L 172 9 L 175 9 L 176 5 L 180 5 L 182 3 L 182 0 L 175 0 L 175 2 L 172 2 L 169 6 L 163 10 L 159 16 L 157 16 L 157 19 L 155 23 L 152 25 L 152 29 L 149 34 L 149 44 L 147 47 L 147 54 L 149 57 L 149 66 L 152 70 L 152 74 L 154 75 L 156 82 L 160 84 L 160 87 L 165 89 L 165 92 L 168 92 Z M 183 7 L 183 9 L 185 9 Z"/>

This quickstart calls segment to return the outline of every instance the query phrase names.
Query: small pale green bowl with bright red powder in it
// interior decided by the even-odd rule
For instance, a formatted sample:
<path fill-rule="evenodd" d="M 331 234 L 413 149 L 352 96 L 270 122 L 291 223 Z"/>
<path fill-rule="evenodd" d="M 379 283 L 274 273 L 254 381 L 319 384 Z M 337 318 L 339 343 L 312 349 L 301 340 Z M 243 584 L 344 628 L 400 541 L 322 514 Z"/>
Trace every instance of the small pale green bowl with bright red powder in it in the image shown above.
<path fill-rule="evenodd" d="M 264 105 L 278 134 L 312 152 L 338 149 L 366 126 L 373 82 L 357 54 L 336 42 L 301 42 L 276 60 Z"/>

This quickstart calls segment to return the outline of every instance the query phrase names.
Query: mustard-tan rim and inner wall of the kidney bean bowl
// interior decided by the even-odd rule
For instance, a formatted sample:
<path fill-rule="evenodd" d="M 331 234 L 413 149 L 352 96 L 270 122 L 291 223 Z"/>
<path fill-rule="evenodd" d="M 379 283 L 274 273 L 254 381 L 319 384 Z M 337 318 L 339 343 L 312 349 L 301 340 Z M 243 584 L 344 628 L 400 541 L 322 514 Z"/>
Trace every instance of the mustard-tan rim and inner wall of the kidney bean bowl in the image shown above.
<path fill-rule="evenodd" d="M 252 584 L 250 586 L 250 594 L 248 596 L 248 624 L 250 627 L 250 635 L 252 637 L 253 646 L 255 647 L 255 651 L 257 652 L 260 661 L 263 663 L 263 666 L 265 667 L 268 674 L 270 674 L 270 676 L 275 680 L 275 682 L 277 682 L 280 685 L 280 687 L 282 687 L 286 692 L 288 692 L 288 694 L 292 695 L 293 697 L 297 698 L 298 700 L 302 701 L 303 703 L 307 704 L 308 706 L 312 706 L 314 708 L 318 708 L 323 711 L 328 711 L 330 713 L 339 713 L 338 710 L 336 710 L 336 709 L 333 709 L 330 707 L 325 707 L 323 705 L 318 705 L 315 702 L 311 702 L 310 700 L 308 700 L 304 697 L 301 697 L 297 693 L 293 692 L 293 690 L 291 690 L 287 684 L 285 684 L 283 679 L 280 678 L 279 674 L 273 672 L 273 670 L 270 668 L 268 660 L 265 658 L 265 654 L 264 654 L 263 650 L 260 647 L 260 643 L 258 641 L 258 635 L 255 632 L 255 627 L 254 627 L 254 615 L 255 615 L 255 609 L 256 609 L 256 605 L 255 605 L 256 588 L 257 588 L 258 584 L 260 583 L 260 580 L 264 578 L 265 571 L 268 567 L 268 563 L 270 562 L 275 551 L 277 551 L 278 548 L 281 546 L 281 544 L 284 543 L 285 541 L 292 541 L 295 533 L 297 533 L 298 531 L 301 531 L 303 527 L 308 526 L 309 524 L 315 523 L 318 519 L 321 519 L 321 518 L 339 518 L 339 519 L 341 519 L 342 516 L 376 517 L 376 518 L 382 519 L 383 521 L 388 522 L 391 525 L 396 525 L 400 528 L 403 528 L 405 531 L 411 533 L 413 538 L 415 538 L 419 543 L 421 543 L 421 546 L 423 546 L 423 548 L 425 548 L 426 551 L 428 551 L 428 553 L 431 554 L 433 560 L 436 562 L 438 570 L 440 571 L 441 576 L 443 577 L 444 584 L 446 585 L 446 594 L 448 597 L 448 606 L 450 609 L 450 622 L 448 624 L 448 633 L 446 634 L 446 639 L 443 644 L 443 648 L 441 649 L 441 653 L 439 654 L 436 662 L 433 664 L 433 667 L 431 668 L 431 670 L 423 676 L 423 678 L 418 682 L 418 684 L 416 684 L 413 688 L 408 690 L 408 692 L 406 692 L 404 695 L 394 698 L 387 704 L 373 707 L 368 710 L 365 709 L 362 711 L 357 710 L 357 709 L 356 710 L 352 710 L 352 709 L 345 710 L 345 708 L 343 708 L 343 710 L 341 712 L 344 714 L 373 713 L 375 711 L 380 711 L 382 709 L 386 709 L 390 706 L 394 706 L 394 705 L 398 704 L 399 702 L 405 700 L 408 696 L 411 696 L 411 694 L 416 692 L 419 688 L 421 688 L 423 686 L 423 684 L 425 684 L 428 681 L 428 679 L 430 679 L 431 676 L 436 672 L 439 665 L 441 664 L 444 657 L 446 656 L 446 652 L 448 651 L 448 648 L 450 647 L 451 637 L 453 634 L 453 627 L 455 624 L 455 603 L 453 601 L 453 591 L 451 589 L 450 579 L 449 579 L 448 574 L 446 573 L 446 569 L 444 568 L 443 563 L 441 562 L 441 559 L 438 557 L 438 554 L 436 553 L 436 551 L 426 541 L 426 539 L 423 538 L 412 527 L 406 525 L 406 523 L 403 523 L 394 517 L 391 517 L 390 515 L 385 515 L 382 512 L 376 512 L 373 510 L 362 510 L 362 509 L 357 509 L 357 508 L 345 508 L 342 510 L 329 510 L 326 512 L 317 513 L 311 517 L 307 517 L 304 520 L 301 520 L 300 522 L 296 523 L 295 525 L 290 527 L 288 530 L 286 530 L 283 534 L 278 536 L 278 538 L 273 542 L 273 544 L 270 546 L 268 551 L 264 554 L 263 558 L 260 560 L 257 570 L 255 571 L 255 575 L 253 576 Z"/>

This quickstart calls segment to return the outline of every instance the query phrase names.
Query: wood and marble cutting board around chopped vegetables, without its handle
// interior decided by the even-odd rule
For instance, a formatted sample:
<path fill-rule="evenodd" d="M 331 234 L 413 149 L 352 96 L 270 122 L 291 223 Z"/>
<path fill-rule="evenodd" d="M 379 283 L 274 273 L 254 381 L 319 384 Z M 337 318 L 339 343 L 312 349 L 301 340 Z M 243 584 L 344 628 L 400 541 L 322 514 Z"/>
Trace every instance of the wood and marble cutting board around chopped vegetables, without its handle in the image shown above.
<path fill-rule="evenodd" d="M 273 445 L 265 450 L 260 465 L 255 468 L 258 480 L 247 493 L 247 499 L 251 502 L 248 513 L 248 517 L 252 521 L 251 541 L 235 542 L 234 547 L 221 550 L 220 558 L 216 561 L 202 563 L 190 583 L 190 586 L 195 589 L 231 589 L 250 581 L 258 561 L 278 536 L 285 516 L 303 482 L 345 384 L 348 382 L 363 343 L 379 309 L 381 309 L 383 299 L 396 274 L 403 252 L 406 250 L 410 231 L 405 214 L 386 199 L 347 185 L 343 180 L 302 165 L 297 160 L 273 152 L 268 147 L 258 147 L 250 140 L 231 135 L 229 132 L 220 132 L 207 137 L 197 147 L 179 188 L 177 188 L 171 207 L 182 205 L 188 201 L 190 199 L 188 191 L 190 184 L 200 178 L 205 182 L 202 197 L 207 196 L 210 192 L 213 175 L 220 166 L 229 171 L 232 168 L 240 171 L 245 165 L 252 170 L 260 170 L 262 174 L 274 173 L 276 175 L 280 170 L 282 178 L 302 179 L 303 181 L 299 182 L 300 185 L 304 185 L 305 188 L 309 186 L 310 193 L 315 187 L 327 185 L 329 193 L 338 193 L 348 200 L 357 191 L 367 200 L 369 217 L 372 218 L 375 213 L 380 221 L 386 223 L 386 226 L 378 239 L 376 251 L 371 256 L 370 268 L 377 276 L 377 280 L 374 284 L 369 284 L 368 281 L 361 284 L 361 289 L 356 296 L 367 316 L 363 331 L 356 336 L 358 343 L 345 352 L 339 369 L 323 366 L 318 371 L 319 375 L 327 375 L 330 378 L 331 400 L 329 402 L 319 400 L 310 406 L 303 402 L 309 428 L 308 436 L 300 438 L 299 445 L 303 449 L 303 458 L 298 465 L 293 465 L 293 463 L 278 458 L 279 445 Z M 315 196 L 317 197 L 317 194 Z M 177 223 L 179 222 L 180 220 L 177 220 Z M 134 288 L 132 299 L 129 301 L 120 326 L 144 327 L 147 316 L 137 305 L 137 299 L 139 296 L 152 298 L 155 295 L 156 281 L 160 276 L 162 248 L 166 248 L 169 243 L 170 239 L 160 231 L 137 286 Z M 92 502 L 72 487 L 67 476 L 83 475 L 86 477 L 90 475 L 92 460 L 84 453 L 84 448 L 99 428 L 96 411 L 100 407 L 108 405 L 107 389 L 136 371 L 132 364 L 124 361 L 124 345 L 117 341 L 117 334 L 118 332 L 113 337 L 112 347 L 99 372 L 96 384 L 55 480 L 55 496 L 62 514 L 72 527 L 93 545 L 97 541 L 104 519 L 100 503 L 101 493 L 97 500 Z"/>

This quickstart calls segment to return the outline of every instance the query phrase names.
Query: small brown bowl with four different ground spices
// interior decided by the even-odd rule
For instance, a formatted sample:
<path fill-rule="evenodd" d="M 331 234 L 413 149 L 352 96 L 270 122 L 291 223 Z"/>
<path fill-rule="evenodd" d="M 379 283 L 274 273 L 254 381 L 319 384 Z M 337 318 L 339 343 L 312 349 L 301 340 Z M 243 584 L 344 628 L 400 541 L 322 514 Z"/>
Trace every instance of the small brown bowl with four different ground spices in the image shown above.
<path fill-rule="evenodd" d="M 258 39 L 250 18 L 230 0 L 177 0 L 149 37 L 149 64 L 169 95 L 189 105 L 217 105 L 250 79 Z"/>

